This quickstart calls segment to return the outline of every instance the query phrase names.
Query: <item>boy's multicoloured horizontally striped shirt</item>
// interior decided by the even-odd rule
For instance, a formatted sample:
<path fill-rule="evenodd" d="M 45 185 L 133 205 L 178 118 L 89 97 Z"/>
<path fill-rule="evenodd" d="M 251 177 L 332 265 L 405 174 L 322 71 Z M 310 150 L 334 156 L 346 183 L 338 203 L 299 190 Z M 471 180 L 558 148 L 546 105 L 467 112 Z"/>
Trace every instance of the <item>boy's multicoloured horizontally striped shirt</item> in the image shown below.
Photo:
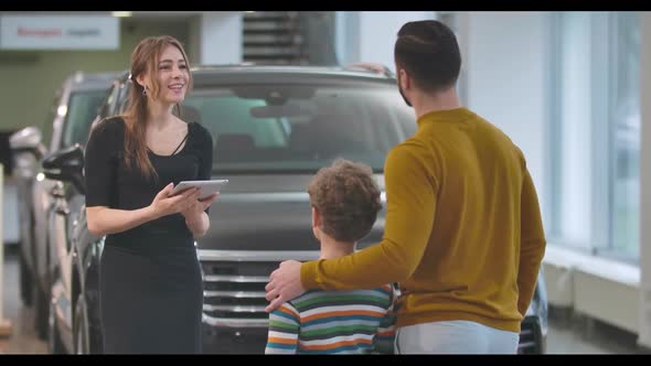
<path fill-rule="evenodd" d="M 313 290 L 269 314 L 266 354 L 393 353 L 393 286 Z"/>

